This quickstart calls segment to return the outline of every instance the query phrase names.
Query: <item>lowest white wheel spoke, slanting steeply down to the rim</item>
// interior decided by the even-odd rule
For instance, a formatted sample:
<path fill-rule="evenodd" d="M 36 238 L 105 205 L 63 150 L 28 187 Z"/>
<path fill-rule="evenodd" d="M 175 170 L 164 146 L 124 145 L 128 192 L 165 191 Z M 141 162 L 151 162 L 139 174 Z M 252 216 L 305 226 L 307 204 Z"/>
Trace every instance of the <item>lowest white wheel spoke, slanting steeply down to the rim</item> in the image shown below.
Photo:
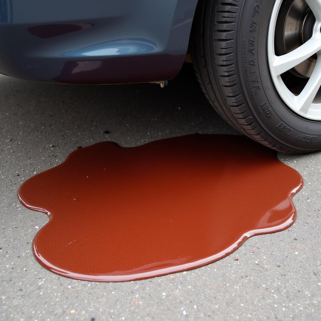
<path fill-rule="evenodd" d="M 299 96 L 295 97 L 296 108 L 300 112 L 307 114 L 308 110 L 315 99 L 318 90 L 321 87 L 321 57 L 318 56 L 317 64 L 306 86 Z"/>

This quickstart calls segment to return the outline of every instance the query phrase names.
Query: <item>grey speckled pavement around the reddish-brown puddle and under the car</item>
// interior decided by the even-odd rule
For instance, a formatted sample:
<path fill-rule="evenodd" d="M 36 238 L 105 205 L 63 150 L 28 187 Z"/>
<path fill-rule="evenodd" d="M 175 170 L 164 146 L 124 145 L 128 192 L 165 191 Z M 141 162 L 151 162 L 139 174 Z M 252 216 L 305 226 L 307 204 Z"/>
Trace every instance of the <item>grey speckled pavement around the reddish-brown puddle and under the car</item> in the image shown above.
<path fill-rule="evenodd" d="M 279 154 L 305 181 L 288 230 L 253 237 L 230 256 L 183 273 L 77 281 L 33 257 L 32 239 L 48 218 L 20 205 L 24 180 L 59 164 L 78 145 L 111 140 L 135 146 L 195 132 L 237 132 L 207 103 L 189 69 L 165 89 L 1 76 L 0 99 L 0 320 L 320 320 L 321 153 Z"/>

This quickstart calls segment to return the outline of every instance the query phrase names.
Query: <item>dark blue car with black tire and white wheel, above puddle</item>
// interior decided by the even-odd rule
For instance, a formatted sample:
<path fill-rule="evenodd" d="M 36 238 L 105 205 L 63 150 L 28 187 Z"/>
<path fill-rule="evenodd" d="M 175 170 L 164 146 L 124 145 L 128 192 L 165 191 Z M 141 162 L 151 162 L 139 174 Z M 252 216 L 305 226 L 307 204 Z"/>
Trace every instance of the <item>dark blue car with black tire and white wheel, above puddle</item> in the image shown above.
<path fill-rule="evenodd" d="M 191 56 L 215 110 L 274 150 L 321 149 L 321 0 L 4 0 L 0 73 L 162 87 Z"/>

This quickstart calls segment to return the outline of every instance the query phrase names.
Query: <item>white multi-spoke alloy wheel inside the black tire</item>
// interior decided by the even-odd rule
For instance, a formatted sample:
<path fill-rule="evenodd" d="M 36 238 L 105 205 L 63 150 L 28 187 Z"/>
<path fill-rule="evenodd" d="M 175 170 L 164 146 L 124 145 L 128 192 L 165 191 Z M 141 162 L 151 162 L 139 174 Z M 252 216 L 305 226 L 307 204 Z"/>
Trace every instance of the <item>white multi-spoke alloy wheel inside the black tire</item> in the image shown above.
<path fill-rule="evenodd" d="M 293 112 L 321 120 L 321 0 L 276 0 L 267 58 L 277 93 Z"/>

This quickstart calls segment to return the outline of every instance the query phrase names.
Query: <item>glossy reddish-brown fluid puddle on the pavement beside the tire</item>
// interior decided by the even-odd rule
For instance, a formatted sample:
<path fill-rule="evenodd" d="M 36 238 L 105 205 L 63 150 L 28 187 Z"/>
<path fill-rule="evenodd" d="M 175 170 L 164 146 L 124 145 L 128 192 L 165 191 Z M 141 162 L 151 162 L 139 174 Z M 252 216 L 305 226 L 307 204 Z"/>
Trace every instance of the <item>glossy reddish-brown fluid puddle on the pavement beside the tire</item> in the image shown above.
<path fill-rule="evenodd" d="M 243 136 L 195 134 L 79 148 L 23 183 L 19 198 L 50 218 L 33 241 L 41 265 L 110 282 L 193 269 L 288 228 L 302 185 Z"/>

